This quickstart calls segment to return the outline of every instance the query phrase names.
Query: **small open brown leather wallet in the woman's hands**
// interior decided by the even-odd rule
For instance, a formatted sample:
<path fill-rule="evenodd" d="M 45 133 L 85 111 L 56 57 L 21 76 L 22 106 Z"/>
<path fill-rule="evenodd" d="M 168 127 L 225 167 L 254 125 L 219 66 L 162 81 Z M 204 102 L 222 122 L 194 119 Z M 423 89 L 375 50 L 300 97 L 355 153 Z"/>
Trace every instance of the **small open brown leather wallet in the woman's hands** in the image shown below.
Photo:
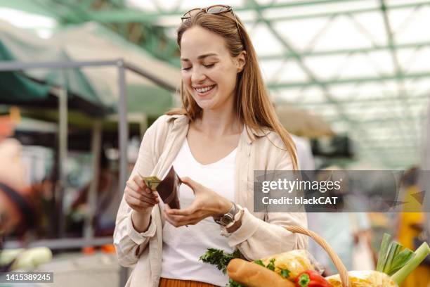
<path fill-rule="evenodd" d="M 179 204 L 179 186 L 182 181 L 176 174 L 173 165 L 171 166 L 166 177 L 158 184 L 157 191 L 159 197 L 162 198 L 165 204 L 169 205 L 169 208 L 180 209 Z"/>

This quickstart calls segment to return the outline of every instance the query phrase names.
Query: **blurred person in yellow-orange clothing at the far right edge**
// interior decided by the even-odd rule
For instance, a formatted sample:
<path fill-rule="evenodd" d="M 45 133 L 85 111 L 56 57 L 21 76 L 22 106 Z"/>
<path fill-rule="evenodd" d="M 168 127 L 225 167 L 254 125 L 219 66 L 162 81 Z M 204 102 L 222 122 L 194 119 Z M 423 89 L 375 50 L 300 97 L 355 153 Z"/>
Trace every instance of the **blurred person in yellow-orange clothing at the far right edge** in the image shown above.
<path fill-rule="evenodd" d="M 398 242 L 409 248 L 415 250 L 420 245 L 424 227 L 424 212 L 422 210 L 422 196 L 421 190 L 418 186 L 419 169 L 412 167 L 405 172 L 402 179 L 403 191 L 403 212 L 398 214 L 398 228 L 397 238 Z M 429 179 L 426 179 L 429 180 Z M 430 264 L 429 257 L 427 257 L 422 264 L 417 267 L 406 279 L 400 287 L 416 287 L 428 286 L 430 284 Z"/>

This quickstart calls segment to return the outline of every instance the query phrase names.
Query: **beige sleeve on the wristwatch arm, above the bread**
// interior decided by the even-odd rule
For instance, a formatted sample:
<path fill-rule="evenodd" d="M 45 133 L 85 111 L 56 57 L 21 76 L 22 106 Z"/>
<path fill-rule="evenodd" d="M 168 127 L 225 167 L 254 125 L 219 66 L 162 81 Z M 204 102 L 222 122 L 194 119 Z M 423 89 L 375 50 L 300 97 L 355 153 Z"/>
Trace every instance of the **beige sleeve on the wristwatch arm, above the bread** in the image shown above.
<path fill-rule="evenodd" d="M 293 170 L 291 157 L 285 150 L 273 148 L 270 153 L 275 160 L 272 170 Z M 228 236 L 228 245 L 239 249 L 248 260 L 308 247 L 305 235 L 293 234 L 284 228 L 291 225 L 307 228 L 305 212 L 268 212 L 265 219 L 255 217 L 245 208 L 242 225 Z"/>

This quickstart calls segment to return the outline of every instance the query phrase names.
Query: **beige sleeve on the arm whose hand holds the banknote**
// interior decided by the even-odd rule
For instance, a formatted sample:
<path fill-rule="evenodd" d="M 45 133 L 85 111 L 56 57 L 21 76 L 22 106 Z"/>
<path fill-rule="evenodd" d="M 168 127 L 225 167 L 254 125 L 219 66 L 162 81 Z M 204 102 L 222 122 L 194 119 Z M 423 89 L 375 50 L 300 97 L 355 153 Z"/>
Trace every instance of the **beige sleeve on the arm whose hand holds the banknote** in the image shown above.
<path fill-rule="evenodd" d="M 159 144 L 157 138 L 161 136 L 162 129 L 165 128 L 162 126 L 165 122 L 165 116 L 159 117 L 146 130 L 139 148 L 138 159 L 129 180 L 137 174 L 137 171 L 142 175 L 151 175 L 150 173 L 157 163 L 157 144 Z M 155 236 L 156 232 L 156 224 L 152 219 L 150 219 L 150 226 L 147 231 L 142 233 L 136 231 L 131 222 L 132 211 L 123 195 L 117 212 L 113 238 L 118 262 L 124 267 L 136 264 L 143 250 L 147 248 L 150 238 Z"/>

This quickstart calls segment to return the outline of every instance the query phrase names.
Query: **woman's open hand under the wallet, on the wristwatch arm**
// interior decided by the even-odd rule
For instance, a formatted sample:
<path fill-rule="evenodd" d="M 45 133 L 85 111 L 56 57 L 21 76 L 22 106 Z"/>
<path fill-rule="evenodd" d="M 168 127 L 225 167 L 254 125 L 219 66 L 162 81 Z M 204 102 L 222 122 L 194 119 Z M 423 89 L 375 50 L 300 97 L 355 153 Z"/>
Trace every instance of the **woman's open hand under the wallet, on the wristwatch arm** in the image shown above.
<path fill-rule="evenodd" d="M 171 209 L 164 205 L 164 217 L 174 227 L 194 225 L 206 217 L 220 217 L 230 210 L 232 203 L 215 191 L 208 189 L 189 177 L 181 178 L 183 184 L 190 186 L 195 198 L 188 208 L 183 210 Z"/>

